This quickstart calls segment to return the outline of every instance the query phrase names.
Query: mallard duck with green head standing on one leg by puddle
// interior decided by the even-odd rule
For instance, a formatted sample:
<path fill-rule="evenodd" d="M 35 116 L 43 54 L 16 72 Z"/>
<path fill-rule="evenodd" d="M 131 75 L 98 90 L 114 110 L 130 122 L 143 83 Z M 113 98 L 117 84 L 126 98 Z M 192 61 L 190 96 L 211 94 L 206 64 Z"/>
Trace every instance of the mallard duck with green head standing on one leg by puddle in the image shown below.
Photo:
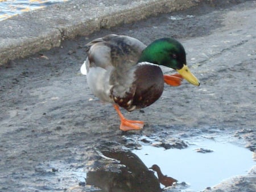
<path fill-rule="evenodd" d="M 133 37 L 112 34 L 90 41 L 86 52 L 88 57 L 81 73 L 86 74 L 96 97 L 113 103 L 122 131 L 141 130 L 144 123 L 126 119 L 119 107 L 133 111 L 150 106 L 162 95 L 164 82 L 179 86 L 185 78 L 193 85 L 200 85 L 188 69 L 183 46 L 175 39 L 162 38 L 146 46 Z M 159 65 L 179 74 L 164 75 Z"/>

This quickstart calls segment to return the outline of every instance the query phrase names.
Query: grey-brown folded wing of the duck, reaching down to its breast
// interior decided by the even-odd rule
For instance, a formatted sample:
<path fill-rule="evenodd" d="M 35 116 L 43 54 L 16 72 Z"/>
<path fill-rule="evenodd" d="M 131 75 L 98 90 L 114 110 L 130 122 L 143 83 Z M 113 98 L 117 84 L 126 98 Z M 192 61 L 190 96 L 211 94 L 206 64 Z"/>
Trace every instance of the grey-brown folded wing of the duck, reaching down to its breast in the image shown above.
<path fill-rule="evenodd" d="M 86 46 L 87 72 L 93 67 L 106 69 L 110 72 L 107 81 L 118 95 L 130 92 L 134 66 L 146 45 L 133 37 L 112 34 L 90 41 Z"/>

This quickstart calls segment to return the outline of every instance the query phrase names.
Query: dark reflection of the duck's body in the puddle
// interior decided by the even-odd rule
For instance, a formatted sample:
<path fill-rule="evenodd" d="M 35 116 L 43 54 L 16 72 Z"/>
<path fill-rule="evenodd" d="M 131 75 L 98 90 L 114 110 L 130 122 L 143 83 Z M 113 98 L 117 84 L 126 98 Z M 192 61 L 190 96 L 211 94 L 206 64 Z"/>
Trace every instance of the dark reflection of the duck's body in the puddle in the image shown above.
<path fill-rule="evenodd" d="M 88 172 L 86 184 L 100 187 L 100 191 L 162 191 L 154 172 L 148 170 L 137 155 L 124 151 L 104 151 L 106 157 L 120 161 L 119 172 L 97 170 Z"/>

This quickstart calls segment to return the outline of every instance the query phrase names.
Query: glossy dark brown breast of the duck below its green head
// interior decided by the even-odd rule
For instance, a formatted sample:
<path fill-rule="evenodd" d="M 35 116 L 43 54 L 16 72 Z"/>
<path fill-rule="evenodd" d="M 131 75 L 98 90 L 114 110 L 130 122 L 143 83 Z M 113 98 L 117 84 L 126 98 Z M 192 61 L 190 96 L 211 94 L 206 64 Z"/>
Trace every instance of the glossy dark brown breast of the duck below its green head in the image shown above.
<path fill-rule="evenodd" d="M 110 90 L 113 101 L 128 111 L 150 106 L 162 95 L 164 87 L 163 72 L 158 65 L 143 62 L 134 68 L 131 69 L 133 79 L 125 93 L 118 84 Z"/>

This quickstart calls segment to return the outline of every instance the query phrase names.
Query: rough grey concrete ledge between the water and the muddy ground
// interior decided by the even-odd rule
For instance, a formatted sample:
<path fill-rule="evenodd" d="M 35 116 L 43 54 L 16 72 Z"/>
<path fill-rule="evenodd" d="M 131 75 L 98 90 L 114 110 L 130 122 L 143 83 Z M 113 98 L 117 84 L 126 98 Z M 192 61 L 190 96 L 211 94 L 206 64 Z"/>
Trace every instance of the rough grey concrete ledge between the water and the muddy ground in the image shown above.
<path fill-rule="evenodd" d="M 0 65 L 59 47 L 63 39 L 89 35 L 103 27 L 134 22 L 160 12 L 187 9 L 199 2 L 71 0 L 42 10 L 26 12 L 1 22 Z"/>

